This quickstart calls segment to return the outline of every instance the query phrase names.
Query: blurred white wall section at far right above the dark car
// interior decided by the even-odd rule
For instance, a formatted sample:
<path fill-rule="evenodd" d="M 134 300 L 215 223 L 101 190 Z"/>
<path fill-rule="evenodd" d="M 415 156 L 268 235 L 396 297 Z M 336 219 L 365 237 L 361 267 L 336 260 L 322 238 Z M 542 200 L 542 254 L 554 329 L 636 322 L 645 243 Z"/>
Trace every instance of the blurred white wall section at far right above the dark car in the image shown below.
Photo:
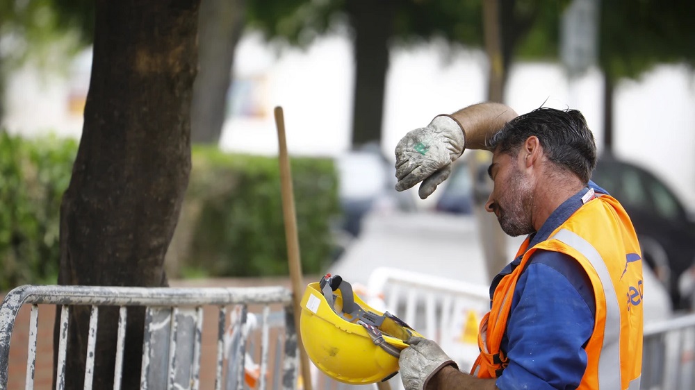
<path fill-rule="evenodd" d="M 621 83 L 616 154 L 658 174 L 695 210 L 695 75 L 663 66 Z"/>

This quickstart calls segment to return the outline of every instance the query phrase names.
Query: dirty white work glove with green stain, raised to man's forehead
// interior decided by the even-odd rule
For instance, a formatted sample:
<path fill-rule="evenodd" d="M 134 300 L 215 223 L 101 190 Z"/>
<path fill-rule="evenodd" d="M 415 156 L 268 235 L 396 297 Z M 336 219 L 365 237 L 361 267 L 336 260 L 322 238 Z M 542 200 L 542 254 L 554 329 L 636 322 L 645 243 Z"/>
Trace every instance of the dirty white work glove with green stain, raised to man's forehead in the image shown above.
<path fill-rule="evenodd" d="M 448 115 L 410 131 L 395 146 L 395 189 L 403 191 L 423 182 L 418 194 L 427 198 L 449 177 L 451 163 L 464 153 L 465 144 L 464 130 Z"/>

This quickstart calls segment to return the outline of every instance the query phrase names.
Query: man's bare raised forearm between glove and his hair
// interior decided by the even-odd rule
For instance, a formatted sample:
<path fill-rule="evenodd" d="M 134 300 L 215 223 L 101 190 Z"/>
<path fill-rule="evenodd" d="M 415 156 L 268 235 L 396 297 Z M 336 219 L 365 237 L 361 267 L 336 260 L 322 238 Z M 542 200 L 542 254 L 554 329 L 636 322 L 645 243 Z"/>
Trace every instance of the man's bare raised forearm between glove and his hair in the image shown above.
<path fill-rule="evenodd" d="M 464 128 L 466 149 L 487 149 L 485 141 L 518 115 L 501 103 L 469 105 L 450 115 Z"/>

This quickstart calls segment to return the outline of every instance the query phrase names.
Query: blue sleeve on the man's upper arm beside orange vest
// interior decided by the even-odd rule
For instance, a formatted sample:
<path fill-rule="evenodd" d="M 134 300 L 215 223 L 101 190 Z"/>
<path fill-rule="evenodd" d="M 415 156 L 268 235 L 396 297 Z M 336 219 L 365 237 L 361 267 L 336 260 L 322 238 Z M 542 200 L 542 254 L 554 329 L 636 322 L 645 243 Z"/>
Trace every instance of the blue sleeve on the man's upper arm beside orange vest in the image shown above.
<path fill-rule="evenodd" d="M 582 266 L 568 255 L 539 251 L 521 274 L 507 323 L 509 366 L 500 390 L 576 389 L 587 368 L 595 300 Z M 506 348 L 505 348 L 505 344 Z"/>

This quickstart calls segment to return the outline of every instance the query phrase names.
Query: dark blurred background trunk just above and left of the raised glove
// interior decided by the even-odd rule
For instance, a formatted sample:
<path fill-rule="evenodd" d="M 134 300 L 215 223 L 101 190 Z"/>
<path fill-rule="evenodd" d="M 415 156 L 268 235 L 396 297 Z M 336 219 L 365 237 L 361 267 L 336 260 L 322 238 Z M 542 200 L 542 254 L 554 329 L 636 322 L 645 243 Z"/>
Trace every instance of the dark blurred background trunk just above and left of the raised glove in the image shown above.
<path fill-rule="evenodd" d="M 354 28 L 355 82 L 352 146 L 381 144 L 389 38 L 393 33 L 393 0 L 350 0 L 347 12 Z"/>

